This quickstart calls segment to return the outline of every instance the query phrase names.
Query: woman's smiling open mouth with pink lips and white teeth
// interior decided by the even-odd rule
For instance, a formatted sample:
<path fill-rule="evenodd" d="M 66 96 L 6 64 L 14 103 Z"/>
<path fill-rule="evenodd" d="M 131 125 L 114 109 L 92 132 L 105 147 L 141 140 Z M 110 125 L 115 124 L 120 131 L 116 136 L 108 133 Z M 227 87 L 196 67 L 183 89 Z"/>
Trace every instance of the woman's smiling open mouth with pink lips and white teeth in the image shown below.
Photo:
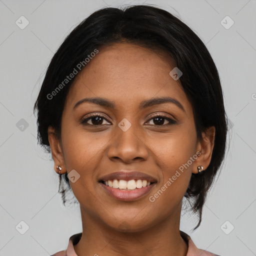
<path fill-rule="evenodd" d="M 157 180 L 142 172 L 114 172 L 98 180 L 100 186 L 116 199 L 129 201 L 145 196 Z"/>

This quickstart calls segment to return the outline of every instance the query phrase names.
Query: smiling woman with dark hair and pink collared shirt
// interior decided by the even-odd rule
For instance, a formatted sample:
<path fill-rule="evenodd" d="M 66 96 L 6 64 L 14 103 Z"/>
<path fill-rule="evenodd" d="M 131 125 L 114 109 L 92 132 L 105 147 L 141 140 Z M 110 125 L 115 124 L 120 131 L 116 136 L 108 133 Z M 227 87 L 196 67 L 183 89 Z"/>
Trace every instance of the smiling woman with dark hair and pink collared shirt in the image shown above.
<path fill-rule="evenodd" d="M 54 256 L 216 255 L 179 230 L 183 198 L 201 222 L 227 132 L 216 66 L 187 25 L 146 5 L 92 13 L 54 54 L 35 109 L 63 203 L 64 182 L 81 211 Z"/>

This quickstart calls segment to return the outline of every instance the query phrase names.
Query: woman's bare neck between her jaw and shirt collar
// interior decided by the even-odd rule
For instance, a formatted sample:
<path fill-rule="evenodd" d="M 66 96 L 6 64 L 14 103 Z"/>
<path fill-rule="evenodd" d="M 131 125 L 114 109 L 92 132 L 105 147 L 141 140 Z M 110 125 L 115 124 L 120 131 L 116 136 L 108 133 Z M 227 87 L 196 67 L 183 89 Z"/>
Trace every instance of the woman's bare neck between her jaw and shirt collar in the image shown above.
<path fill-rule="evenodd" d="M 78 256 L 161 255 L 186 256 L 187 243 L 180 236 L 179 214 L 136 232 L 121 232 L 100 223 L 81 209 L 82 236 L 74 245 Z"/>

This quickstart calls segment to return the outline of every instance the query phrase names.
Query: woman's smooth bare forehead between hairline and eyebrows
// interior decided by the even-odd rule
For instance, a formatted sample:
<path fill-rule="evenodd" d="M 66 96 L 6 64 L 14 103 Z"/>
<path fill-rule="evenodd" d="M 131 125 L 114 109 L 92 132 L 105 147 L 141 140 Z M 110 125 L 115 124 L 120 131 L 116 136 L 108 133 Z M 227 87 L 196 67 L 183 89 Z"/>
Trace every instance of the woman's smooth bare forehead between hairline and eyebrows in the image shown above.
<path fill-rule="evenodd" d="M 179 81 L 169 75 L 174 66 L 161 50 L 129 43 L 105 46 L 75 77 L 66 106 L 73 107 L 84 97 L 109 98 L 123 107 L 152 97 L 171 96 L 189 108 Z"/>

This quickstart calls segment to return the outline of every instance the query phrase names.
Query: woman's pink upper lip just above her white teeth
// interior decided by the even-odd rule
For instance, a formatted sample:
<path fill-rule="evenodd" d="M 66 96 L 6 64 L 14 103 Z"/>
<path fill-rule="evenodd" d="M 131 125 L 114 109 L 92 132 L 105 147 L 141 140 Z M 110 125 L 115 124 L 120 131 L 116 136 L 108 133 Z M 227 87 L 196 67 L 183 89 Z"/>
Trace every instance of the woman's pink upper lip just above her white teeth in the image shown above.
<path fill-rule="evenodd" d="M 131 179 L 141 179 L 141 180 L 147 180 L 150 182 L 155 182 L 156 179 L 146 173 L 140 172 L 140 171 L 116 171 L 112 172 L 110 174 L 106 174 L 99 178 L 99 180 L 107 181 L 107 180 L 113 180 L 113 179 L 123 179 L 123 180 L 131 180 Z"/>

